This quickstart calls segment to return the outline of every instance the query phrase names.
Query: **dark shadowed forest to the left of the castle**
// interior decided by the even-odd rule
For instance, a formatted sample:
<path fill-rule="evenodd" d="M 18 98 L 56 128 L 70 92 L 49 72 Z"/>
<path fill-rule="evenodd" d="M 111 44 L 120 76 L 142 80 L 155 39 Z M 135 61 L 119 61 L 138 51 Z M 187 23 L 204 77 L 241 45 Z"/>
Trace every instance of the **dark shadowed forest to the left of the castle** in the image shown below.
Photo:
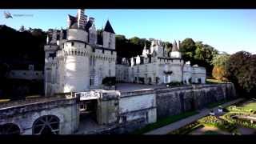
<path fill-rule="evenodd" d="M 0 26 L 0 96 L 19 99 L 27 94 L 43 94 L 42 81 L 7 79 L 10 70 L 28 70 L 34 64 L 34 70 L 44 68 L 44 49 L 46 33 L 40 29 L 14 30 Z"/>

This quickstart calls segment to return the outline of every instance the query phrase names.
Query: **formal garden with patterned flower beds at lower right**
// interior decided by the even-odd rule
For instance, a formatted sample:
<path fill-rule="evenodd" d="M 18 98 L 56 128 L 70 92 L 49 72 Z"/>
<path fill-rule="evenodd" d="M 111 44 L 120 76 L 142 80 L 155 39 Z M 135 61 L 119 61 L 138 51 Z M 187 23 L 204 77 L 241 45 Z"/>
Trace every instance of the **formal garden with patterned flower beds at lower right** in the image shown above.
<path fill-rule="evenodd" d="M 223 108 L 222 114 L 210 114 L 169 134 L 256 134 L 256 100 Z"/>

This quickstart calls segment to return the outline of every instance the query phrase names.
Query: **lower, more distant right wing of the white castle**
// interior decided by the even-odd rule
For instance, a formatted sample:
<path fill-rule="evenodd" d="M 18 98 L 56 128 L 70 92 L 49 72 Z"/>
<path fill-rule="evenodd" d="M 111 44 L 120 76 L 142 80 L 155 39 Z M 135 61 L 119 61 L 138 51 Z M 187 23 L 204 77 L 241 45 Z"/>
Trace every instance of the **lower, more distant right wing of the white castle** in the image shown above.
<path fill-rule="evenodd" d="M 190 66 L 190 62 L 182 60 L 179 52 L 180 42 L 174 41 L 172 50 L 167 52 L 160 40 L 150 39 L 151 46 L 146 45 L 142 55 L 135 58 L 122 58 L 116 66 L 119 82 L 136 82 L 146 84 L 162 84 L 170 82 L 205 83 L 206 69 L 198 65 Z"/>

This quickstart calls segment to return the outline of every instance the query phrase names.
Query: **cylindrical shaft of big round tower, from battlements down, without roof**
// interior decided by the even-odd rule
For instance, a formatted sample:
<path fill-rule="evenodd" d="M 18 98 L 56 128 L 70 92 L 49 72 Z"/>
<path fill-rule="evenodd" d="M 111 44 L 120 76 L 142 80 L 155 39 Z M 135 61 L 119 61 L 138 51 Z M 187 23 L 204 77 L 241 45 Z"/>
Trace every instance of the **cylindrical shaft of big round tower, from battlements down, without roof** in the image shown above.
<path fill-rule="evenodd" d="M 65 42 L 63 67 L 63 92 L 78 92 L 90 89 L 90 50 L 86 42 Z"/>

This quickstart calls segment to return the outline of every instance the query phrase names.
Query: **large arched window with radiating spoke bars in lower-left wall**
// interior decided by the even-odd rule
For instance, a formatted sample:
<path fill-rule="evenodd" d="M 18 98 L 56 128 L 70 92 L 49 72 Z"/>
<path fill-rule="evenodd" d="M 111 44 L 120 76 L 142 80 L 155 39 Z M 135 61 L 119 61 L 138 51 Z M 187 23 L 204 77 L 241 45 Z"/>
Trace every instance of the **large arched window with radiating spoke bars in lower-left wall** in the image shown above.
<path fill-rule="evenodd" d="M 33 134 L 58 134 L 59 119 L 54 115 L 45 115 L 34 121 Z"/>

